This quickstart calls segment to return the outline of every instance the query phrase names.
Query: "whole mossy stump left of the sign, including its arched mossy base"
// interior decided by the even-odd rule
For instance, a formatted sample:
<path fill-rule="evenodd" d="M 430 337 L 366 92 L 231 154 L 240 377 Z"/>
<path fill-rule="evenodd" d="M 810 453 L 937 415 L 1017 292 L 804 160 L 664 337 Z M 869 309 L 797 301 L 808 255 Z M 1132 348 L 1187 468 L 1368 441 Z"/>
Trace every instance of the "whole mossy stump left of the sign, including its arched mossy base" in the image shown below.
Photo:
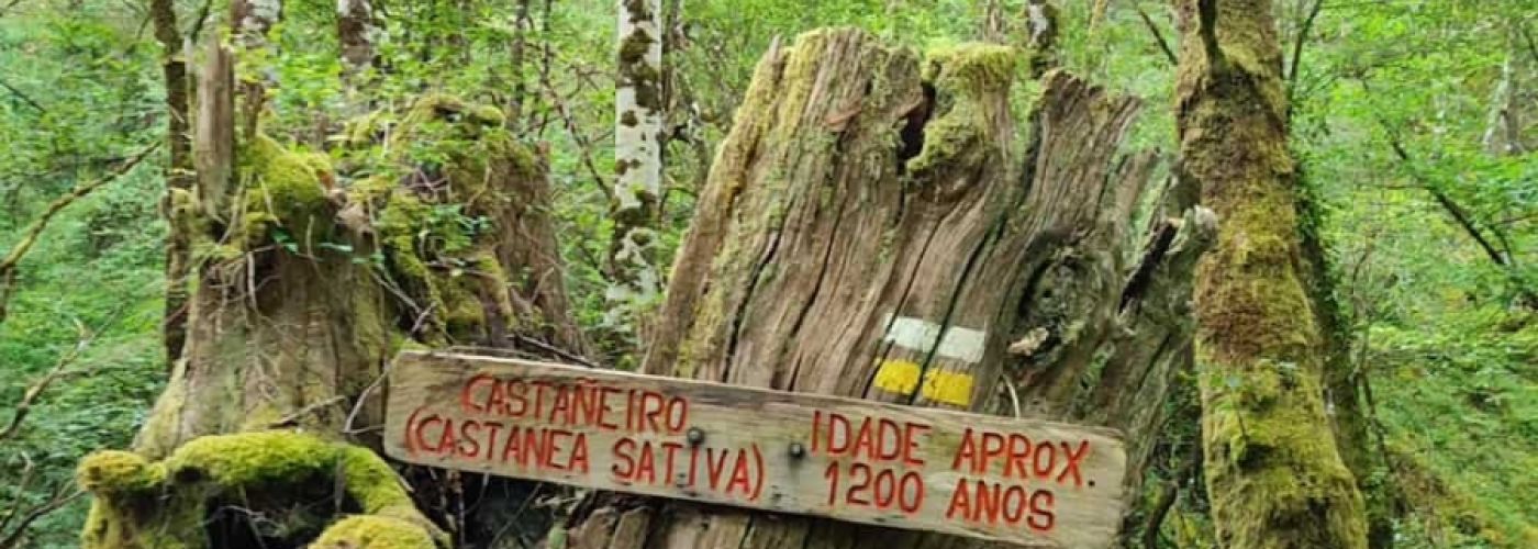
<path fill-rule="evenodd" d="M 198 143 L 211 169 L 171 200 L 194 258 L 185 354 L 135 454 L 82 463 L 95 495 L 83 544 L 446 546 L 368 449 L 381 375 L 409 344 L 584 351 L 544 161 L 500 111 L 452 97 L 358 120 L 345 163 L 261 132 L 232 143 L 215 52 Z"/>

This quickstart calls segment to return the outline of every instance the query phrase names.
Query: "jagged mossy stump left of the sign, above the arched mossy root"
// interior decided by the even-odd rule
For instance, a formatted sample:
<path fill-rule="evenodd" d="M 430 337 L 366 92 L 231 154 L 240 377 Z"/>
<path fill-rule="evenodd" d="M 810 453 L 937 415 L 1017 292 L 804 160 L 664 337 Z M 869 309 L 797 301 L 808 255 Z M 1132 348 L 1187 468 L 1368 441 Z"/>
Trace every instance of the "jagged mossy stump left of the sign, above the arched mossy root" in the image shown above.
<path fill-rule="evenodd" d="M 266 429 L 377 444 L 377 381 L 401 341 L 528 341 L 540 348 L 537 355 L 584 351 L 554 255 L 560 246 L 548 217 L 546 166 L 512 141 L 497 109 L 429 95 L 403 117 L 380 117 L 403 120 L 381 132 L 394 138 L 423 137 L 412 129 L 431 128 L 451 134 L 423 138 L 463 148 L 434 166 L 404 155 L 374 166 L 398 178 L 358 177 L 338 188 L 338 168 L 328 157 L 261 134 L 240 141 L 240 174 L 232 174 L 231 57 L 215 46 L 211 58 L 198 128 L 214 138 L 200 143 L 198 158 L 212 169 L 200 171 L 197 198 L 183 194 L 174 201 L 174 223 L 198 252 L 188 344 L 135 440 L 140 455 L 163 460 L 198 437 Z M 366 141 L 374 132 L 360 135 Z M 394 145 L 368 151 L 406 149 Z M 444 228 L 434 217 L 443 211 L 477 228 L 458 220 Z M 461 487 L 455 481 L 418 494 L 441 489 L 468 498 Z M 518 501 L 483 498 L 475 509 L 498 514 Z M 483 529 L 500 518 L 454 526 Z M 112 515 L 88 529 L 154 526 L 134 520 Z M 211 534 L 209 543 L 228 541 L 221 535 Z"/>

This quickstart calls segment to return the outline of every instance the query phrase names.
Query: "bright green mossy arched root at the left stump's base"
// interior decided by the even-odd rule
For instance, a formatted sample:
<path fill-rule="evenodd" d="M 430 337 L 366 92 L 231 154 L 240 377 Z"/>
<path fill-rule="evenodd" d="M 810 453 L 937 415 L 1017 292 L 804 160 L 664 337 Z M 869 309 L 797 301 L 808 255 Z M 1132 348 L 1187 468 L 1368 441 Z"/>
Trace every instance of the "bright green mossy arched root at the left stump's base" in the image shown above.
<path fill-rule="evenodd" d="M 97 452 L 82 461 L 77 478 L 97 497 L 82 534 L 86 547 L 208 547 L 211 541 L 198 524 L 211 503 L 228 497 L 281 500 L 306 486 L 334 481 L 366 515 L 332 524 L 321 535 L 321 546 L 341 540 L 363 543 L 354 547 L 449 544 L 417 512 L 384 460 L 369 449 L 306 434 L 201 437 L 160 463 L 128 452 Z"/>

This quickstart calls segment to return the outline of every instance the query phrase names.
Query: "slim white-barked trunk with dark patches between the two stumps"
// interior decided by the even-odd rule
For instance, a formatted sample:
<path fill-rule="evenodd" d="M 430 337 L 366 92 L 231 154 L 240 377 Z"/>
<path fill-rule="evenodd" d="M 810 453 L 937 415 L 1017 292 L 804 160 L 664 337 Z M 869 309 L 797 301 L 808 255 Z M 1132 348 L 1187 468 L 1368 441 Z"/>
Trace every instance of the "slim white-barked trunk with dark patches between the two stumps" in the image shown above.
<path fill-rule="evenodd" d="M 611 318 L 654 301 L 661 284 L 655 218 L 663 180 L 660 0 L 618 0 L 618 80 L 614 86 L 614 237 L 609 245 Z"/>

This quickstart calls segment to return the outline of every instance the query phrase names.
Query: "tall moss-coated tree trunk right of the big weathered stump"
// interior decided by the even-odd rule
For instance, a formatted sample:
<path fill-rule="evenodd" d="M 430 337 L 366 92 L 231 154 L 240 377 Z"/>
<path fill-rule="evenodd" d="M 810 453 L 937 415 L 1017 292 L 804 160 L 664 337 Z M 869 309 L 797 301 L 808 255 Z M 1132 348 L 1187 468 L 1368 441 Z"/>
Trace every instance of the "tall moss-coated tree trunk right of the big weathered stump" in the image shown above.
<path fill-rule="evenodd" d="M 1324 414 L 1321 332 L 1269 0 L 1180 0 L 1181 177 L 1221 218 L 1197 269 L 1207 494 L 1226 547 L 1366 547 Z"/>

